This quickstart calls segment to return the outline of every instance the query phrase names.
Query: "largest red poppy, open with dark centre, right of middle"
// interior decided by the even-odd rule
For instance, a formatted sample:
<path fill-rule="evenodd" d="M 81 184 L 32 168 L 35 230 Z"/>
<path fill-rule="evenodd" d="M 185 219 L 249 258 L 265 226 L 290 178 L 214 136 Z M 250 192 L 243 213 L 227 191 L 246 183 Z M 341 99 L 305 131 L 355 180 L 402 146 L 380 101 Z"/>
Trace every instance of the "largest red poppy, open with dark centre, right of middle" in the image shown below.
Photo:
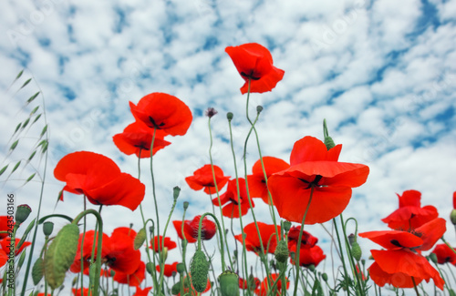
<path fill-rule="evenodd" d="M 368 166 L 337 162 L 342 145 L 329 150 L 317 138 L 305 137 L 295 142 L 290 168 L 268 179 L 268 187 L 280 217 L 306 224 L 323 223 L 337 217 L 347 207 L 352 188 L 368 179 Z"/>

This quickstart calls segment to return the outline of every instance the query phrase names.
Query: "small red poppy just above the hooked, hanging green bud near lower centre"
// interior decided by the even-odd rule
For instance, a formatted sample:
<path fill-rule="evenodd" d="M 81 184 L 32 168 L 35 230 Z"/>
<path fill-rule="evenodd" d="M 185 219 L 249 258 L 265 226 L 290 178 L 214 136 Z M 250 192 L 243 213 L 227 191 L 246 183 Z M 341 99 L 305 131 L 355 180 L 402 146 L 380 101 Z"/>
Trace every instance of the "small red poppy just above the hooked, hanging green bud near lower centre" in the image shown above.
<path fill-rule="evenodd" d="M 185 235 L 185 239 L 188 242 L 195 242 L 198 240 L 198 228 L 200 227 L 200 219 L 201 215 L 196 216 L 191 220 L 184 220 L 183 221 L 183 234 Z M 177 234 L 181 240 L 183 240 L 182 235 L 182 221 L 181 220 L 174 220 L 172 221 L 174 228 L 177 231 Z M 201 230 L 201 238 L 202 240 L 211 240 L 212 237 L 215 235 L 215 231 L 217 227 L 214 222 L 207 217 L 202 219 L 202 230 Z"/>

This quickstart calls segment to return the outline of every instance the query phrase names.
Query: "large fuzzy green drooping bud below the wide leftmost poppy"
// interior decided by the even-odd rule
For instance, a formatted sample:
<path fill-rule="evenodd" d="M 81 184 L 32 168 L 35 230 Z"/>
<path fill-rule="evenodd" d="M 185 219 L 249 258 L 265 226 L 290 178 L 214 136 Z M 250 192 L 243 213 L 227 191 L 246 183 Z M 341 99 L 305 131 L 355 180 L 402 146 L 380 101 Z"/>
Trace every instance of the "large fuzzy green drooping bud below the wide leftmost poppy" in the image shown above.
<path fill-rule="evenodd" d="M 65 280 L 65 273 L 76 257 L 78 240 L 78 225 L 67 224 L 50 244 L 45 257 L 45 278 L 53 290 Z"/>

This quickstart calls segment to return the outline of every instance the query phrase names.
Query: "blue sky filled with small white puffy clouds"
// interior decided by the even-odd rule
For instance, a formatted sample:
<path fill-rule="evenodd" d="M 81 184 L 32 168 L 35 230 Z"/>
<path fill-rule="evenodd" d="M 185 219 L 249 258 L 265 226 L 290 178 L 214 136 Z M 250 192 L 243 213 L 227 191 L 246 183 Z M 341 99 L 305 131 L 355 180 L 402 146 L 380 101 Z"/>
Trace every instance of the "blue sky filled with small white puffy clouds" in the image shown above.
<path fill-rule="evenodd" d="M 22 185 L 34 168 L 42 174 L 45 159 L 35 158 L 27 167 L 23 161 L 5 181 L 16 162 L 34 150 L 44 127 L 41 118 L 26 128 L 18 148 L 8 153 L 16 125 L 33 107 L 40 105 L 37 113 L 42 111 L 41 96 L 35 105 L 23 107 L 37 90 L 44 95 L 50 131 L 42 215 L 70 216 L 82 210 L 82 199 L 67 194 L 54 209 L 63 187 L 52 174 L 57 161 L 89 150 L 113 158 L 122 171 L 137 176 L 136 158 L 122 155 L 111 138 L 133 121 L 129 101 L 165 92 L 181 98 L 194 118 L 188 133 L 169 139 L 171 146 L 154 158 L 161 225 L 176 185 L 182 190 L 172 219 L 181 219 L 184 200 L 191 203 L 188 218 L 212 210 L 208 197 L 192 191 L 184 178 L 209 162 L 207 107 L 219 111 L 212 118 L 214 164 L 234 176 L 225 117 L 231 111 L 236 159 L 244 174 L 242 148 L 249 128 L 246 96 L 239 91 L 244 80 L 224 48 L 256 42 L 269 48 L 275 66 L 285 70 L 272 92 L 251 96 L 252 115 L 257 105 L 264 106 L 257 124 L 264 156 L 288 161 L 297 139 L 323 138 L 326 118 L 330 135 L 343 144 L 339 159 L 370 168 L 368 182 L 354 189 L 344 212 L 345 218 L 358 219 L 359 231 L 386 230 L 380 219 L 397 209 L 395 193 L 407 189 L 420 190 L 422 205 L 434 205 L 446 219 L 456 190 L 454 15 L 456 1 L 438 0 L 325 0 L 317 5 L 297 0 L 4 1 L 0 167 L 10 167 L 0 177 L 2 194 L 14 193 L 16 204 L 28 203 L 36 212 L 39 179 Z M 23 77 L 11 86 L 23 68 Z M 29 77 L 33 81 L 17 91 Z M 254 138 L 251 144 L 249 167 L 258 159 Z M 146 165 L 147 160 L 141 179 L 150 189 Z M 258 218 L 271 222 L 261 200 L 256 204 Z M 155 219 L 149 191 L 143 206 L 146 216 Z M 1 209 L 5 214 L 5 207 Z M 114 206 L 102 214 L 108 234 L 130 222 L 140 228 L 139 210 Z M 245 222 L 251 220 L 249 216 Z M 57 229 L 65 224 L 55 222 Z M 322 227 L 307 230 L 329 252 Z M 168 233 L 175 238 L 173 229 Z M 451 231 L 446 237 L 456 243 Z M 375 247 L 368 240 L 361 246 L 365 258 Z M 325 268 L 330 270 L 329 260 Z"/>

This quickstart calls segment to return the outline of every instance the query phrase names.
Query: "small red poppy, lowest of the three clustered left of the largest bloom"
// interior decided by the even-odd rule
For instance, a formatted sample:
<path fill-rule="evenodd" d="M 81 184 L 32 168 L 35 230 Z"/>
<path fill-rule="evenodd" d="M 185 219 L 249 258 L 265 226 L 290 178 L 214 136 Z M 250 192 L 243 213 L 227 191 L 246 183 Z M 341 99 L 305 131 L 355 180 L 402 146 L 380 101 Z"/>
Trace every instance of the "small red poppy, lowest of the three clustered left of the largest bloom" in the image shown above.
<path fill-rule="evenodd" d="M 241 196 L 237 196 L 236 179 L 228 181 L 228 188 L 225 193 L 220 196 L 220 204 L 218 198 L 212 199 L 212 203 L 218 207 L 226 204 L 222 209 L 222 215 L 224 217 L 239 218 L 238 205 L 241 204 L 241 216 L 244 216 L 250 209 L 249 199 L 247 195 L 247 189 L 245 187 L 245 179 L 239 178 L 239 191 Z M 252 207 L 254 207 L 254 200 L 252 201 Z"/>

